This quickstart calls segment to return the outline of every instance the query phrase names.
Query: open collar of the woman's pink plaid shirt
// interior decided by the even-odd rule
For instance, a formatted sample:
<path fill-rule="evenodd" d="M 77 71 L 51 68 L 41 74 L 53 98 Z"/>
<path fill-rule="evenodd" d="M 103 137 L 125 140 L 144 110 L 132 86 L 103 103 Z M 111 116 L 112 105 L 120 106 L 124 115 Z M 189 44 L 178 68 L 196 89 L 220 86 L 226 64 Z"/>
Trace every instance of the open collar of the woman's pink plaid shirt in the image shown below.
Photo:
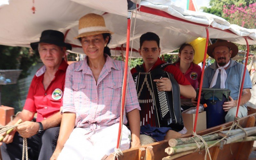
<path fill-rule="evenodd" d="M 115 61 L 114 61 L 111 57 L 109 57 L 109 56 L 108 56 L 107 54 L 105 54 L 105 53 L 104 53 L 104 56 L 107 57 L 106 63 L 105 63 L 104 66 L 107 68 L 107 70 L 108 70 L 109 72 L 111 71 L 111 68 L 114 68 L 114 69 L 116 69 L 116 70 L 120 70 L 120 68 L 118 68 L 118 66 L 116 65 Z M 82 62 L 80 65 L 78 65 L 78 66 L 76 66 L 76 67 L 74 68 L 74 71 L 79 72 L 79 71 L 83 70 L 83 73 L 89 74 L 89 68 L 90 68 L 90 67 L 88 66 L 87 60 L 88 60 L 88 57 L 86 56 L 86 57 L 84 58 L 83 62 Z"/>

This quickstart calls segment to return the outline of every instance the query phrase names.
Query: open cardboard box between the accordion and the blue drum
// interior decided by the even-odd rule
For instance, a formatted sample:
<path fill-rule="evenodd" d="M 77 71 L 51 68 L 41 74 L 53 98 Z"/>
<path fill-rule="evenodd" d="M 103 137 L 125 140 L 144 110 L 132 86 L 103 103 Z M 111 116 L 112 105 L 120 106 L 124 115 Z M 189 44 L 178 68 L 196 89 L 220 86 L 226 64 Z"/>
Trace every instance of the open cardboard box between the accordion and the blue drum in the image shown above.
<path fill-rule="evenodd" d="M 187 114 L 187 113 L 181 113 L 184 126 L 188 130 L 187 133 L 192 133 L 194 129 L 195 124 L 195 118 L 196 114 Z M 196 132 L 202 131 L 206 129 L 206 112 L 198 113 L 197 117 L 197 124 L 196 124 Z"/>

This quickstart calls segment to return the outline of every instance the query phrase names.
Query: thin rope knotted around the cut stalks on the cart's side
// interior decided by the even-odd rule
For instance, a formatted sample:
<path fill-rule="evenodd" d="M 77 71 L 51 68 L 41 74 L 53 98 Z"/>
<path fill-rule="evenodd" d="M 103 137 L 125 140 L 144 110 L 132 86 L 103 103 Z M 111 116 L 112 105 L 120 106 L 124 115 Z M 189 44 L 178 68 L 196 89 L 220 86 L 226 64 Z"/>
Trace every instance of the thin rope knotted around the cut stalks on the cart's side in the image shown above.
<path fill-rule="evenodd" d="M 234 122 L 232 123 L 232 125 L 231 125 L 230 127 L 226 127 L 226 128 L 220 129 L 220 130 L 218 130 L 218 131 L 222 131 L 222 130 L 224 130 L 224 129 L 229 128 L 229 130 L 228 130 L 228 132 L 227 132 L 227 135 L 228 135 L 229 132 L 230 132 L 234 127 L 240 128 L 241 130 L 244 131 L 244 133 L 245 133 L 244 140 L 245 140 L 246 137 L 248 136 L 248 134 L 247 134 L 247 132 L 245 131 L 245 129 L 239 124 L 239 118 L 238 118 L 238 117 L 235 117 Z M 218 132 L 218 131 L 214 131 L 214 132 L 211 132 L 211 133 L 208 133 L 208 134 L 205 134 L 205 135 L 209 135 L 209 134 L 212 134 L 212 133 L 215 133 L 215 132 Z M 220 141 L 222 141 L 222 140 L 224 140 L 225 138 L 228 137 L 227 135 L 225 135 L 223 138 L 221 138 L 220 140 L 216 141 L 214 144 L 208 146 L 207 143 L 206 143 L 206 141 L 202 138 L 202 136 L 196 134 L 196 132 L 193 132 L 192 135 L 198 137 L 198 138 L 203 142 L 203 144 L 204 144 L 204 149 L 205 149 L 205 155 L 204 155 L 204 159 L 205 159 L 205 160 L 207 159 L 207 155 L 209 156 L 210 160 L 212 160 L 209 149 L 210 149 L 211 147 L 215 146 L 216 144 L 220 143 Z M 196 142 L 196 140 L 195 140 L 193 137 L 192 137 L 192 139 Z M 196 146 L 197 146 L 197 148 L 200 150 L 200 148 L 201 148 L 202 145 L 199 145 L 199 144 L 196 142 Z"/>

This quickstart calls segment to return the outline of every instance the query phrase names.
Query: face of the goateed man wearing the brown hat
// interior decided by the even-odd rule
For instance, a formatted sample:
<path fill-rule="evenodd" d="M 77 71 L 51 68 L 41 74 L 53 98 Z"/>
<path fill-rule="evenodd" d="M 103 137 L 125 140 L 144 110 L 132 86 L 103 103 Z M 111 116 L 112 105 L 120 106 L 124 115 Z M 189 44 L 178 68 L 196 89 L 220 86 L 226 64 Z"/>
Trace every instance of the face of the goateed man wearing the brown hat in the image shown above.
<path fill-rule="evenodd" d="M 227 46 L 218 46 L 214 48 L 212 54 L 219 66 L 225 66 L 229 62 L 232 51 Z"/>

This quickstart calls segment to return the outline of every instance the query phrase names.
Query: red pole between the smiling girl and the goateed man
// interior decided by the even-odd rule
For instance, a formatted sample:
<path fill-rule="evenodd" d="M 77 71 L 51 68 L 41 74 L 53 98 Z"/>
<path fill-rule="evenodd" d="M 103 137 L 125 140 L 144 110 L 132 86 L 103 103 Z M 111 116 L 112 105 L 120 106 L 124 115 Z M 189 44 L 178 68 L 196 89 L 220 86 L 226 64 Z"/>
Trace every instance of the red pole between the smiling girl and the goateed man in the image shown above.
<path fill-rule="evenodd" d="M 202 86 L 203 86 L 204 66 L 205 66 L 206 53 L 207 53 L 207 48 L 208 48 L 208 41 L 209 41 L 209 31 L 208 31 L 208 28 L 206 28 L 206 43 L 205 43 L 205 50 L 204 50 L 204 60 L 203 60 L 203 68 L 202 68 L 201 82 L 200 82 L 199 93 L 198 93 L 198 97 L 197 97 L 196 117 L 195 117 L 194 129 L 193 129 L 194 132 L 196 132 L 196 122 L 197 122 L 197 116 L 198 116 L 198 110 L 199 110 L 199 103 L 200 103 L 201 92 L 202 92 Z"/>

